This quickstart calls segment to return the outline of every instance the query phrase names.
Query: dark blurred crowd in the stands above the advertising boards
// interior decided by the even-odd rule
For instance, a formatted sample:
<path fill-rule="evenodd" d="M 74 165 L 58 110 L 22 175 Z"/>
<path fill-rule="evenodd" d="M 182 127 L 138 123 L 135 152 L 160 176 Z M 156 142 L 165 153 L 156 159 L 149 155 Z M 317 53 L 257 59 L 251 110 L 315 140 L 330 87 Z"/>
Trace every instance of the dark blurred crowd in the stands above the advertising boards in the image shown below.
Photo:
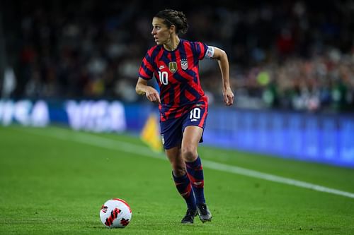
<path fill-rule="evenodd" d="M 227 52 L 237 107 L 354 111 L 354 1 L 57 0 L 0 7 L 3 97 L 142 100 L 135 83 L 154 45 L 152 17 L 174 8 L 190 25 L 181 37 Z M 222 104 L 217 63 L 201 61 L 200 78 L 210 102 Z"/>

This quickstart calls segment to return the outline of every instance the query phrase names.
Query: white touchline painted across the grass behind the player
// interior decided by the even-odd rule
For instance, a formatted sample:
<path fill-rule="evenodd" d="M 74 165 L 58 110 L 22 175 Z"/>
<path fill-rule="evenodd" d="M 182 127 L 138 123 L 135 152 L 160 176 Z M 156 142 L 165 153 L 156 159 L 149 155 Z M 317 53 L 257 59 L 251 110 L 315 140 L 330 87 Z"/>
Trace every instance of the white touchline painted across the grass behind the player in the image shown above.
<path fill-rule="evenodd" d="M 21 129 L 21 130 L 28 130 L 28 129 Z M 119 150 L 122 152 L 129 152 L 129 153 L 134 153 L 138 155 L 144 155 L 147 157 L 153 157 L 156 159 L 164 159 L 166 160 L 166 157 L 164 157 L 164 154 L 162 153 L 156 153 L 152 152 L 152 150 L 149 149 L 149 147 L 144 147 L 142 145 L 136 145 L 133 143 L 127 143 L 123 142 L 120 140 L 112 140 L 109 138 L 104 138 L 101 136 L 97 135 L 92 135 L 89 133 L 82 133 L 82 132 L 75 132 L 71 130 L 66 130 L 64 128 L 57 128 L 55 131 L 50 131 L 50 133 L 42 133 L 42 131 L 37 131 L 32 129 L 29 131 L 30 133 L 35 133 L 38 135 L 45 135 L 45 136 L 50 136 L 52 138 L 59 138 L 61 140 L 72 140 L 76 141 L 78 143 L 83 143 L 86 145 L 93 145 L 96 147 L 104 147 L 106 149 L 110 150 Z M 314 183 L 307 183 L 304 181 L 297 181 L 295 179 L 290 179 L 290 178 L 285 178 L 282 176 L 276 176 L 273 174 L 267 174 L 263 173 L 260 171 L 254 171 L 251 169 L 246 169 L 242 167 L 235 167 L 232 165 L 227 165 L 227 164 L 222 164 L 218 162 L 212 162 L 210 160 L 203 159 L 202 160 L 203 167 L 207 167 L 210 169 L 215 169 L 218 171 L 225 171 L 233 174 L 241 174 L 244 176 L 250 176 L 253 178 L 257 179 L 264 179 L 267 181 L 273 181 L 277 183 L 285 183 L 291 186 L 297 186 L 299 188 L 308 188 L 312 189 L 314 191 L 320 191 L 320 192 L 325 192 L 325 193 L 331 193 L 335 195 L 342 195 L 344 197 L 348 198 L 354 198 L 354 193 L 349 193 L 346 191 L 340 191 L 335 188 L 327 188 L 324 186 L 319 186 Z"/>

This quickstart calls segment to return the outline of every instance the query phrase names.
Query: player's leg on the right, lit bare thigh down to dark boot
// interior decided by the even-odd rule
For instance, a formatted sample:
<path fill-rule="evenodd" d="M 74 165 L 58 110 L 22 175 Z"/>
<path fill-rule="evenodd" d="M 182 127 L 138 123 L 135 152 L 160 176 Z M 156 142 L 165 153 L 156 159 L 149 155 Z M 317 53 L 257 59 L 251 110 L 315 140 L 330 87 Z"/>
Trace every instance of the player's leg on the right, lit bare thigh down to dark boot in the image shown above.
<path fill-rule="evenodd" d="M 185 160 L 188 177 L 192 182 L 195 202 L 202 222 L 211 221 L 212 215 L 207 209 L 204 197 L 204 175 L 202 162 L 198 156 L 198 143 L 202 139 L 203 129 L 199 126 L 186 126 L 182 139 L 182 156 Z"/>

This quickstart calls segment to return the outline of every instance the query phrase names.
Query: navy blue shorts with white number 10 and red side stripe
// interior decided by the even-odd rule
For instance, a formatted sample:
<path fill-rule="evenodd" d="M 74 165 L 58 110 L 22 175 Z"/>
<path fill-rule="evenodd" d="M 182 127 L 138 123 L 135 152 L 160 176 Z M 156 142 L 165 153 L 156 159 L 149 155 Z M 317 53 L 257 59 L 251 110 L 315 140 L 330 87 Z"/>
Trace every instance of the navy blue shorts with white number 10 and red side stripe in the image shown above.
<path fill-rule="evenodd" d="M 204 130 L 207 120 L 207 107 L 205 105 L 193 107 L 189 112 L 183 114 L 178 119 L 169 119 L 160 121 L 161 139 L 164 149 L 169 150 L 172 147 L 181 145 L 183 131 L 187 126 L 199 126 Z M 202 143 L 200 138 L 199 143 Z"/>

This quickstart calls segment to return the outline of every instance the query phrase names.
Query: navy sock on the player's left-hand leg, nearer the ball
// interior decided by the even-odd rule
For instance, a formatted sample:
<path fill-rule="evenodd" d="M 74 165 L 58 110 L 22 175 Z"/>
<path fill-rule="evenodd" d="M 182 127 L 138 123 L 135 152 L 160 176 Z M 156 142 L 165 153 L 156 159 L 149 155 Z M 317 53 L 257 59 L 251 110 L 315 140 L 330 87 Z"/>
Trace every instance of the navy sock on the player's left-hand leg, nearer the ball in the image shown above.
<path fill-rule="evenodd" d="M 176 177 L 173 175 L 172 172 L 172 176 L 173 176 L 173 181 L 175 181 L 176 188 L 178 192 L 181 194 L 181 196 L 184 198 L 188 208 L 191 210 L 195 210 L 197 206 L 195 205 L 194 193 L 188 175 L 185 174 L 184 176 Z"/>

